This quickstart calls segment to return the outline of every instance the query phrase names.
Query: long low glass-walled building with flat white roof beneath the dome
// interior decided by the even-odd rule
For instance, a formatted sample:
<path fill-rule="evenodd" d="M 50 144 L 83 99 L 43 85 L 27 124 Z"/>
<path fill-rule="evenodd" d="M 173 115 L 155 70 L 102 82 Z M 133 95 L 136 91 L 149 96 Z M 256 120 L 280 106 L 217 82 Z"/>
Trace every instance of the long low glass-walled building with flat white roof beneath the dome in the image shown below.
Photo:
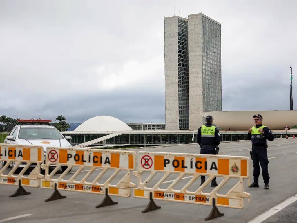
<path fill-rule="evenodd" d="M 196 143 L 197 131 L 90 131 L 90 132 L 61 132 L 64 136 L 72 137 L 72 145 L 81 146 L 103 146 L 103 145 L 168 145 Z M 285 130 L 272 131 L 275 138 L 286 137 Z M 221 142 L 247 140 L 247 131 L 220 131 Z M 297 134 L 297 130 L 288 130 L 288 137 Z M 102 140 L 100 141 L 101 138 Z M 91 142 L 93 141 L 93 142 Z M 98 141 L 98 142 L 96 142 Z M 91 142 L 91 143 L 88 143 Z M 297 140 L 296 140 L 297 142 Z M 83 145 L 84 144 L 84 145 Z"/>

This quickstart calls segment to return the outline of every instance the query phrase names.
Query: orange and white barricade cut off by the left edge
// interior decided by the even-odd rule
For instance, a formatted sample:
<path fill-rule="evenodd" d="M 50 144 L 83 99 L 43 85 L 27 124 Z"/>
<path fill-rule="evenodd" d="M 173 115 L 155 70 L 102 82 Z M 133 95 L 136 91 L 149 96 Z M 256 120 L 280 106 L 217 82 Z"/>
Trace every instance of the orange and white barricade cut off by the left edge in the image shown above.
<path fill-rule="evenodd" d="M 43 147 L 0 144 L 0 161 L 0 184 L 19 186 L 10 197 L 31 194 L 22 186 L 40 186 L 40 179 L 43 178 L 40 174 L 40 166 L 44 162 Z M 31 172 L 28 173 L 28 170 Z"/>

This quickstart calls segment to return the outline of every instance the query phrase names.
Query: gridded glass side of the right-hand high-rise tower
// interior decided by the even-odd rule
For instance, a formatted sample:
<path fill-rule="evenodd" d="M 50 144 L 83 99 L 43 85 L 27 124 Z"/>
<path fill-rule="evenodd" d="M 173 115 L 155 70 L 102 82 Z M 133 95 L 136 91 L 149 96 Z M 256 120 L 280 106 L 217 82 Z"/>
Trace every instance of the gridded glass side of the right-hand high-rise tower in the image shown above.
<path fill-rule="evenodd" d="M 222 111 L 221 26 L 202 16 L 203 112 Z"/>

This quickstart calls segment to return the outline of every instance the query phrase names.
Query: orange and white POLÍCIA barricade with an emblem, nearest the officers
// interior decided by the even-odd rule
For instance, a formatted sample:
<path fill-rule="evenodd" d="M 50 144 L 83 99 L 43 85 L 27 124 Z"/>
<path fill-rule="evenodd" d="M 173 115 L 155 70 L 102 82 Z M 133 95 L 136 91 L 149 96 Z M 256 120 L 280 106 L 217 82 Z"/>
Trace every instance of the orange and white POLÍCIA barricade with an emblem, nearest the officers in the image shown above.
<path fill-rule="evenodd" d="M 162 175 L 159 180 L 156 179 L 157 173 Z M 144 177 L 145 174 L 148 177 Z M 174 180 L 167 180 L 170 174 L 178 176 Z M 206 218 L 209 220 L 223 215 L 216 206 L 243 208 L 244 198 L 249 201 L 250 197 L 249 193 L 244 192 L 244 179 L 248 179 L 249 174 L 249 158 L 244 156 L 139 152 L 138 172 L 134 172 L 138 186 L 134 188 L 133 196 L 150 199 L 143 212 L 159 208 L 153 200 L 212 205 L 213 210 Z M 208 179 L 200 186 L 199 178 L 202 175 Z M 212 187 L 211 192 L 203 192 L 215 177 L 222 178 L 219 185 Z M 234 178 L 237 179 L 236 184 L 226 193 L 221 193 L 224 186 L 231 183 L 230 179 Z"/>

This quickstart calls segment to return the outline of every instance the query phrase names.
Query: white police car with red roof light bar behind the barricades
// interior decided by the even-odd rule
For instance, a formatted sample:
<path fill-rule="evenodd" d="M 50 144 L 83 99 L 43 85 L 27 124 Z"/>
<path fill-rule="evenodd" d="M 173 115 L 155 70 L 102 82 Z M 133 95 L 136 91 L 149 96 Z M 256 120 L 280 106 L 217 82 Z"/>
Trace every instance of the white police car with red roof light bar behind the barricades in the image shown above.
<path fill-rule="evenodd" d="M 18 120 L 19 125 L 12 128 L 4 143 L 14 145 L 34 145 L 42 146 L 44 154 L 46 147 L 71 147 L 68 140 L 72 139 L 70 136 L 63 136 L 55 127 L 50 125 L 52 120 Z M 6 164 L 2 161 L 2 167 Z M 14 167 L 15 162 L 11 162 L 10 167 Z M 20 164 L 19 167 L 24 167 Z M 33 166 L 31 166 L 33 167 Z M 61 171 L 67 166 L 61 166 Z"/>

